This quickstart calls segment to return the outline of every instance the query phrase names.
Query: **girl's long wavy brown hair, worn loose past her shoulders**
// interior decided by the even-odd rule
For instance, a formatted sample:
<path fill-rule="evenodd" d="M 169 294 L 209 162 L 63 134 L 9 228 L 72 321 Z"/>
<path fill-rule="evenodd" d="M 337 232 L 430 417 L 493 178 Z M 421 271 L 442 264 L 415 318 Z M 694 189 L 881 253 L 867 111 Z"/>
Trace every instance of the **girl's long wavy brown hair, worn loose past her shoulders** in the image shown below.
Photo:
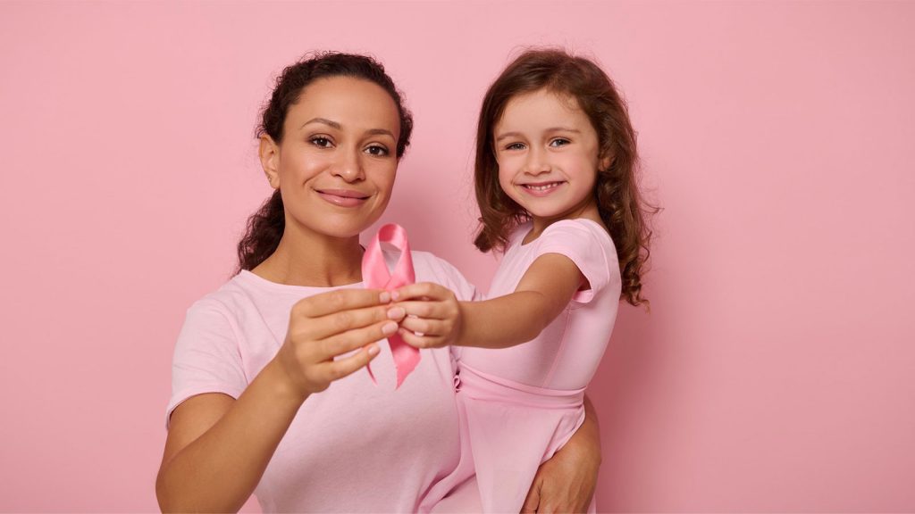
<path fill-rule="evenodd" d="M 641 294 L 641 275 L 647 271 L 650 254 L 648 220 L 658 209 L 647 205 L 640 195 L 636 132 L 613 80 L 591 60 L 571 56 L 563 49 L 523 52 L 486 92 L 477 127 L 474 180 L 480 227 L 474 244 L 481 252 L 504 251 L 511 230 L 530 219 L 499 184 L 493 130 L 512 98 L 541 90 L 574 98 L 597 132 L 598 157 L 609 157 L 610 165 L 597 170 L 594 195 L 600 218 L 616 245 L 622 276 L 620 298 L 631 305 L 647 304 Z"/>

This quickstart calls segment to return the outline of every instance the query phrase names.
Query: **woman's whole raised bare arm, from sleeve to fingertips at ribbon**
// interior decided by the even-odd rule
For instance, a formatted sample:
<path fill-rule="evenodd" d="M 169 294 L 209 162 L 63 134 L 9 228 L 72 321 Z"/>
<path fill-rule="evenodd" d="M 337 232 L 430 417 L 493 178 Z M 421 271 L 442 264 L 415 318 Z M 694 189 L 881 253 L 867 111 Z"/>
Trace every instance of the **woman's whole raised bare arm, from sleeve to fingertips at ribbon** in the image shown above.
<path fill-rule="evenodd" d="M 364 367 L 378 354 L 372 343 L 396 330 L 388 300 L 378 291 L 344 289 L 300 301 L 283 346 L 237 401 L 207 393 L 179 405 L 156 477 L 160 509 L 241 509 L 308 396 Z"/>

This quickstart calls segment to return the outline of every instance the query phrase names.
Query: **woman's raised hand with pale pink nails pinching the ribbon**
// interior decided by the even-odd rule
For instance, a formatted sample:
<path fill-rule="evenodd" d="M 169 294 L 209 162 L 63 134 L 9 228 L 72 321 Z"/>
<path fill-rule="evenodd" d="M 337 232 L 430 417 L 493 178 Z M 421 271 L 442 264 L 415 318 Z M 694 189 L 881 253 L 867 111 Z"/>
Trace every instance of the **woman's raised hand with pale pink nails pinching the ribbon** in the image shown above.
<path fill-rule="evenodd" d="M 309 296 L 293 305 L 289 330 L 276 354 L 296 395 L 328 389 L 378 355 L 376 341 L 397 331 L 403 311 L 391 295 L 373 289 L 339 289 Z M 361 348 L 361 349 L 360 349 Z M 358 352 L 339 357 L 350 351 Z"/>

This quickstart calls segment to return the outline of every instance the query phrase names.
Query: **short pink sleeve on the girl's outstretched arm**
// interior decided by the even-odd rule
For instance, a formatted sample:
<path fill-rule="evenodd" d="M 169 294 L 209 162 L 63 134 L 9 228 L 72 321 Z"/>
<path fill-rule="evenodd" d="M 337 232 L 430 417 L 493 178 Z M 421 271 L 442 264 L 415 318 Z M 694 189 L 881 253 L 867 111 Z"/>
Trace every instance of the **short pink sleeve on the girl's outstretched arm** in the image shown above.
<path fill-rule="evenodd" d="M 559 253 L 575 262 L 591 287 L 587 291 L 578 291 L 572 301 L 587 304 L 600 294 L 610 280 L 609 262 L 616 265 L 616 256 L 615 252 L 608 256 L 608 252 L 613 252 L 613 243 L 606 230 L 597 223 L 588 220 L 561 220 L 547 227 L 537 239 L 533 258 L 545 253 Z"/>

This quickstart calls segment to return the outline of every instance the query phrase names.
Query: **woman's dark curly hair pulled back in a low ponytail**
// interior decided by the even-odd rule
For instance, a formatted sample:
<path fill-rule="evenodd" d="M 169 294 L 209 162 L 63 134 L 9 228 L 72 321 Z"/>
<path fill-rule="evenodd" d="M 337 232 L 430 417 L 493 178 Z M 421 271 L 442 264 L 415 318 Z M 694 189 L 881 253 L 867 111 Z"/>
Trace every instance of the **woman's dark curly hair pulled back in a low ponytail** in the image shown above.
<path fill-rule="evenodd" d="M 302 91 L 311 82 L 329 77 L 352 77 L 368 80 L 391 95 L 400 115 L 400 137 L 397 140 L 397 158 L 404 156 L 413 133 L 413 115 L 404 106 L 403 94 L 397 90 L 391 77 L 384 72 L 380 62 L 368 56 L 340 52 L 309 54 L 285 70 L 276 79 L 270 101 L 264 106 L 261 123 L 255 133 L 258 138 L 269 135 L 278 145 L 283 140 L 283 125 L 289 108 L 298 102 Z M 238 241 L 238 267 L 253 270 L 264 262 L 280 244 L 285 230 L 283 197 L 276 189 L 270 198 L 248 218 L 242 240 Z"/>

